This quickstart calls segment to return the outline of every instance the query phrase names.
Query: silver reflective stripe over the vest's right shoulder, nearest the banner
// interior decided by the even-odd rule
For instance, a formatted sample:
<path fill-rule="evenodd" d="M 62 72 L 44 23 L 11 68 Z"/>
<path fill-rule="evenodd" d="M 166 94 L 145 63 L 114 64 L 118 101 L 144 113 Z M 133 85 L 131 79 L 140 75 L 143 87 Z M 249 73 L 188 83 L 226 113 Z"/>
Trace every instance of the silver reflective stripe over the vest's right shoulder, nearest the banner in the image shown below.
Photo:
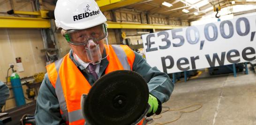
<path fill-rule="evenodd" d="M 125 51 L 120 47 L 120 45 L 112 45 L 112 47 L 123 68 L 126 70 L 131 70 Z"/>

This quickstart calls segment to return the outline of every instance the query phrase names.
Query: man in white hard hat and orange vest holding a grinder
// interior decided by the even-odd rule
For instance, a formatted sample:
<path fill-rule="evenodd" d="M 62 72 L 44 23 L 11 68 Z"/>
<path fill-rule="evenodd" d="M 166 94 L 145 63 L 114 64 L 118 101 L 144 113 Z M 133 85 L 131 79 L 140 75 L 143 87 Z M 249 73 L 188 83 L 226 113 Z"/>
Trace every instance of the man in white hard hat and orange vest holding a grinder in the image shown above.
<path fill-rule="evenodd" d="M 148 82 L 148 116 L 169 100 L 174 85 L 167 74 L 149 66 L 126 45 L 108 45 L 106 18 L 94 0 L 58 0 L 54 14 L 71 50 L 46 66 L 37 98 L 37 125 L 83 125 L 82 94 L 98 78 L 116 70 L 135 71 Z"/>

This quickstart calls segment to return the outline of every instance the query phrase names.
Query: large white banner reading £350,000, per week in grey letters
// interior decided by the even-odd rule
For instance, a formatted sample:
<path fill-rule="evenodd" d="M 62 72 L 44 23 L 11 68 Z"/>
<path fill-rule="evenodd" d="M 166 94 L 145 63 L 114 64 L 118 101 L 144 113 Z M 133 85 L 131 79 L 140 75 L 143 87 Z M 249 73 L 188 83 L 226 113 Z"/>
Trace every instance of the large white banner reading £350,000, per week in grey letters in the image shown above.
<path fill-rule="evenodd" d="M 142 38 L 147 62 L 169 74 L 255 60 L 255 31 L 254 15 Z"/>

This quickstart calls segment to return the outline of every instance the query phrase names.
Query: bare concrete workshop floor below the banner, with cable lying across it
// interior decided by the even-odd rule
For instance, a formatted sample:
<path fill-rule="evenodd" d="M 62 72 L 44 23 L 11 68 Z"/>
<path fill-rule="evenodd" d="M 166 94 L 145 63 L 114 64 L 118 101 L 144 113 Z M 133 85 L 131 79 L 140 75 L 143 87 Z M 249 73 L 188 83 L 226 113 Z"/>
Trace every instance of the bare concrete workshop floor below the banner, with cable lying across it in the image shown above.
<path fill-rule="evenodd" d="M 256 125 L 256 74 L 239 73 L 234 78 L 233 74 L 213 77 L 203 73 L 197 79 L 176 83 L 171 99 L 163 106 L 179 109 L 194 103 L 203 107 L 166 125 Z M 193 109 L 196 107 L 187 111 Z M 169 111 L 149 125 L 178 117 L 179 111 Z"/>

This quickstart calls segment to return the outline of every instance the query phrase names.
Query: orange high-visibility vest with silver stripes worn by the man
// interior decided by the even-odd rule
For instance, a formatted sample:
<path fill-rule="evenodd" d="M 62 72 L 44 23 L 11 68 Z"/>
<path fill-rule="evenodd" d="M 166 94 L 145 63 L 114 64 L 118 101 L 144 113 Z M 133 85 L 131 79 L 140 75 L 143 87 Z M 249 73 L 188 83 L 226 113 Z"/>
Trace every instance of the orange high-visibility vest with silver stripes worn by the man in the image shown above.
<path fill-rule="evenodd" d="M 127 45 L 109 45 L 106 54 L 109 64 L 105 74 L 116 70 L 132 70 L 135 54 Z M 89 93 L 90 83 L 69 58 L 69 54 L 46 66 L 46 69 L 49 80 L 55 88 L 63 120 L 67 125 L 84 125 L 81 96 Z M 145 120 L 143 121 L 138 125 L 145 125 Z"/>

